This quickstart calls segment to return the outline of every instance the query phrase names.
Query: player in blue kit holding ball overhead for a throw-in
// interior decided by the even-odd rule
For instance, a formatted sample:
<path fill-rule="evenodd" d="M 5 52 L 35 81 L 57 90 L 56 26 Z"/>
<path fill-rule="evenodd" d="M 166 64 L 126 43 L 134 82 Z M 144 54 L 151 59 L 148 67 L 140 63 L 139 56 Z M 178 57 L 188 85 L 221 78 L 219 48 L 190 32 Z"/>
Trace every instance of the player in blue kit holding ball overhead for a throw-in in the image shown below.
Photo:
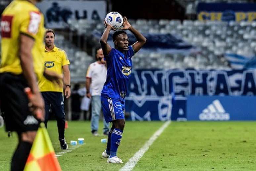
<path fill-rule="evenodd" d="M 129 30 L 137 39 L 133 45 L 128 46 L 128 36 L 125 31 L 116 31 L 113 34 L 114 48 L 107 43 L 110 30 L 115 30 L 107 24 L 101 36 L 101 47 L 104 59 L 107 62 L 107 79 L 101 91 L 101 103 L 106 122 L 112 122 L 108 134 L 107 148 L 102 156 L 108 158 L 108 163 L 123 163 L 117 157 L 117 148 L 121 142 L 124 130 L 124 98 L 132 71 L 132 56 L 146 43 L 146 38 L 134 29 L 127 18 L 123 18 L 123 30 Z"/>

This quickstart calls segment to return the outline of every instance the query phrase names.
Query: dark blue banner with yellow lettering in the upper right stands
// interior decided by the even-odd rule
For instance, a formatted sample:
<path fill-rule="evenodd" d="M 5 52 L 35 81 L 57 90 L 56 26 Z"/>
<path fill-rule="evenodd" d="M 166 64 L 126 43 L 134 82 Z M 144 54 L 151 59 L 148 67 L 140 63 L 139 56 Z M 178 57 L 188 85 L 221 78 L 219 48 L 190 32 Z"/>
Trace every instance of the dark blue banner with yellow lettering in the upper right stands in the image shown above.
<path fill-rule="evenodd" d="M 200 21 L 255 21 L 256 3 L 199 3 Z"/>

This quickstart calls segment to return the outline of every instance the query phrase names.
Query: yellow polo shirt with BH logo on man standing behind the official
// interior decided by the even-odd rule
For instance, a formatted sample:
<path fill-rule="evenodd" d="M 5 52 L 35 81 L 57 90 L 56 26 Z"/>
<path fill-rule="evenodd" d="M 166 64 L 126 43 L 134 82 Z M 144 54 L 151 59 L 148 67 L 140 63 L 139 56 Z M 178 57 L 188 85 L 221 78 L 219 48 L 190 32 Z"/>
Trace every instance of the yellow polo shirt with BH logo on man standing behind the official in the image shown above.
<path fill-rule="evenodd" d="M 70 64 L 66 52 L 55 46 L 51 51 L 44 48 L 43 61 L 45 68 L 58 74 L 62 74 L 62 66 Z M 63 92 L 63 86 L 59 87 L 45 77 L 39 79 L 39 88 L 41 92 Z"/>

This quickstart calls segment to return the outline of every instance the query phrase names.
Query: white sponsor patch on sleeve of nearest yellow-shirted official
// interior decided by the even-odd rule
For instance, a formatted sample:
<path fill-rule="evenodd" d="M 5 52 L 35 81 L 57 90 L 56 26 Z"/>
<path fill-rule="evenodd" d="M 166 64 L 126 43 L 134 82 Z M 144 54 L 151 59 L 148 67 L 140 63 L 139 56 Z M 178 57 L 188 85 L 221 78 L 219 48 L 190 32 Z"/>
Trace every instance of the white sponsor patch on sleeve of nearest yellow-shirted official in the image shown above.
<path fill-rule="evenodd" d="M 30 21 L 28 25 L 27 31 L 32 34 L 36 34 L 39 29 L 39 25 L 41 22 L 41 15 L 38 12 L 31 11 L 30 13 Z"/>

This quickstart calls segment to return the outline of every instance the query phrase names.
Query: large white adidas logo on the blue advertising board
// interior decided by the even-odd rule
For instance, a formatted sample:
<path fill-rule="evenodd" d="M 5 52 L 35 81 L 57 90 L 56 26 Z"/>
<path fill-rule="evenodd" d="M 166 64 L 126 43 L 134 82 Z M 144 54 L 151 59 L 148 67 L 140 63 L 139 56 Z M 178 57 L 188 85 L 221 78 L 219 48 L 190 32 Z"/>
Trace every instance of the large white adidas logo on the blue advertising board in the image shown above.
<path fill-rule="evenodd" d="M 215 120 L 215 121 L 225 121 L 230 119 L 229 113 L 226 113 L 220 100 L 216 99 L 210 104 L 206 109 L 202 111 L 199 115 L 200 120 Z"/>

